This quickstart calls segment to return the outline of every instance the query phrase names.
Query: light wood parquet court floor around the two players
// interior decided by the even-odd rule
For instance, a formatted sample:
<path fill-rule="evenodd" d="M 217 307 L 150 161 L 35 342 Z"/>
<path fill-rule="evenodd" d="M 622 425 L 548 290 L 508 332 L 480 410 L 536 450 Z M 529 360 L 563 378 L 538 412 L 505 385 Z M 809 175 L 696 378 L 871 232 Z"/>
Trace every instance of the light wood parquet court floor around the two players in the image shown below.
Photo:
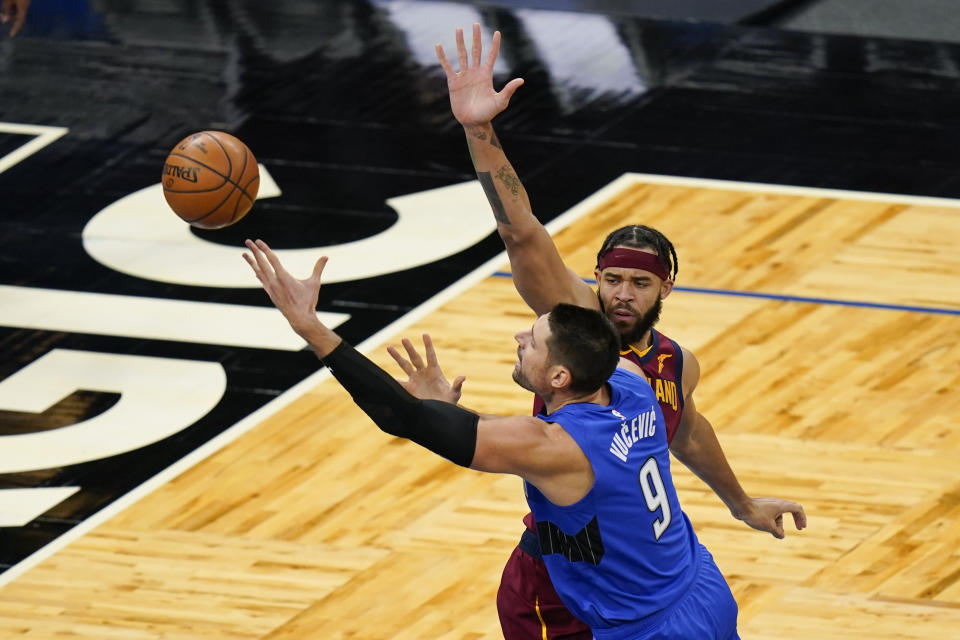
<path fill-rule="evenodd" d="M 621 181 L 558 244 L 589 277 L 606 232 L 642 221 L 680 286 L 960 310 L 949 203 L 721 187 Z M 532 320 L 488 277 L 404 335 L 433 335 L 465 404 L 526 412 L 512 336 Z M 674 464 L 741 637 L 960 637 L 960 317 L 677 291 L 660 328 L 698 355 L 747 491 L 809 517 L 754 532 Z M 519 480 L 391 439 L 327 380 L 0 589 L 0 637 L 499 638 L 525 512 Z"/>

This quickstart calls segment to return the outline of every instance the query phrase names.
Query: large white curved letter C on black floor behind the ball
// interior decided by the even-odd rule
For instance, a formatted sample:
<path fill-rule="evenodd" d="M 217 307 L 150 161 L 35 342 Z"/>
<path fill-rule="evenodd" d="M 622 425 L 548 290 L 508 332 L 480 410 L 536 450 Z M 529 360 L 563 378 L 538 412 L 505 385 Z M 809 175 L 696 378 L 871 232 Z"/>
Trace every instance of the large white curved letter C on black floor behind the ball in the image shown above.
<path fill-rule="evenodd" d="M 280 195 L 260 165 L 258 200 Z M 496 229 L 476 180 L 389 198 L 397 221 L 385 231 L 344 244 L 277 251 L 287 269 L 306 277 L 321 255 L 330 257 L 324 282 L 371 278 L 436 262 L 472 247 Z M 256 205 L 254 205 L 256 206 Z M 256 210 L 252 215 L 256 215 Z M 269 237 L 263 238 L 270 242 Z M 207 242 L 190 232 L 163 199 L 158 183 L 117 200 L 91 218 L 83 246 L 115 271 L 174 284 L 256 288 L 241 247 Z"/>

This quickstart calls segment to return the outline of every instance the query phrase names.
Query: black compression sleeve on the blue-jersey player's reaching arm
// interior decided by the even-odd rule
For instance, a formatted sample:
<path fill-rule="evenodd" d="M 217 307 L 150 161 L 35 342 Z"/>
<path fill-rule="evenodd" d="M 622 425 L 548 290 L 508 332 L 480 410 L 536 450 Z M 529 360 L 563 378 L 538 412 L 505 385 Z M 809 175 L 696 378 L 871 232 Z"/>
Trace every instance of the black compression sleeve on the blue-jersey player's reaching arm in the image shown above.
<path fill-rule="evenodd" d="M 480 416 L 447 402 L 413 397 L 345 341 L 322 360 L 381 431 L 412 440 L 460 466 L 470 466 Z"/>

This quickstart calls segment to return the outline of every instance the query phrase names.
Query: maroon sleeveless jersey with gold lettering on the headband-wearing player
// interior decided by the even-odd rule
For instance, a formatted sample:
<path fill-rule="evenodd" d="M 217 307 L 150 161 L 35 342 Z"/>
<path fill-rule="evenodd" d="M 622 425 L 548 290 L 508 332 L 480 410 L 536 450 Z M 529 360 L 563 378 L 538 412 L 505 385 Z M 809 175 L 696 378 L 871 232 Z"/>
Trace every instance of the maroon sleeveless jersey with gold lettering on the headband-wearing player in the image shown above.
<path fill-rule="evenodd" d="M 620 355 L 643 369 L 647 382 L 657 395 L 660 409 L 663 410 L 669 443 L 673 441 L 673 434 L 677 432 L 683 415 L 683 387 L 680 384 L 683 377 L 683 352 L 680 345 L 656 329 L 651 329 L 650 334 L 652 342 L 649 347 L 637 349 L 631 345 L 621 351 Z M 543 399 L 534 396 L 533 415 L 540 415 L 543 408 Z"/>

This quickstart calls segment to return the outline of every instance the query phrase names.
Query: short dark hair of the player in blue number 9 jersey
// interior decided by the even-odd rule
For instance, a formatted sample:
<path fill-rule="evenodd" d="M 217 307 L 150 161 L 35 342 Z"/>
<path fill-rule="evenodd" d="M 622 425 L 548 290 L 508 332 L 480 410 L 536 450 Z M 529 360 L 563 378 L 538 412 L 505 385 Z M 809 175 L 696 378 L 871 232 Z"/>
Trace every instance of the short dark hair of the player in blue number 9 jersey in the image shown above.
<path fill-rule="evenodd" d="M 570 390 L 590 393 L 599 389 L 617 368 L 620 335 L 599 311 L 561 302 L 550 311 L 550 364 L 570 370 Z"/>

